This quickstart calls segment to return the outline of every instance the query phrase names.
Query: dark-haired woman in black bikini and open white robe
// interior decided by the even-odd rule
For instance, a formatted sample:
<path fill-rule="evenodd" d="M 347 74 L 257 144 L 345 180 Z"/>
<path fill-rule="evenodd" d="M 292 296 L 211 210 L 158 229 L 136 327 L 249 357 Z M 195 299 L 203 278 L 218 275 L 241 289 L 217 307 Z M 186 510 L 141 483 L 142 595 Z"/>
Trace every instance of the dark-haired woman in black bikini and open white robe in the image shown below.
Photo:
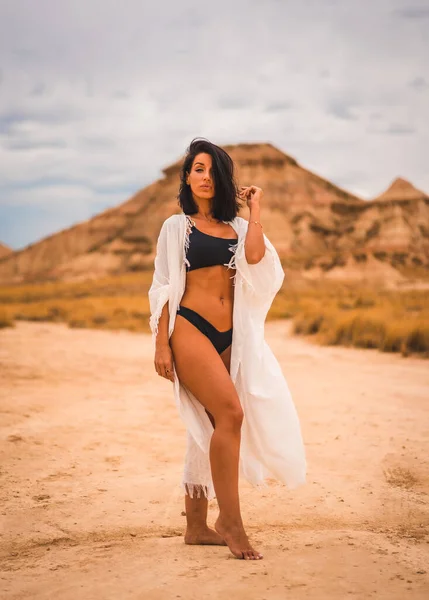
<path fill-rule="evenodd" d="M 181 171 L 182 212 L 161 227 L 149 290 L 155 369 L 174 383 L 188 430 L 185 542 L 226 544 L 251 560 L 262 555 L 243 526 L 239 471 L 254 484 L 276 477 L 295 487 L 306 470 L 295 407 L 263 333 L 284 272 L 263 234 L 262 197 L 256 186 L 238 192 L 222 148 L 193 140 Z M 248 221 L 237 216 L 238 198 Z M 215 530 L 207 526 L 213 497 Z"/>

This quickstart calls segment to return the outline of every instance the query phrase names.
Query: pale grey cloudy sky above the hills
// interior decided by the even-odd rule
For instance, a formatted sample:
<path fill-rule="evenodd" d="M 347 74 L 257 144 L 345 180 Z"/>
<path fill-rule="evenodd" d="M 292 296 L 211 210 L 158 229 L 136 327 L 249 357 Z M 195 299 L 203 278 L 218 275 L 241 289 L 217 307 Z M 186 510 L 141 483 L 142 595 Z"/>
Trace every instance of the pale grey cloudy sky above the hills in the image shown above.
<path fill-rule="evenodd" d="M 0 3 L 0 241 L 126 200 L 195 136 L 429 192 L 429 0 Z"/>

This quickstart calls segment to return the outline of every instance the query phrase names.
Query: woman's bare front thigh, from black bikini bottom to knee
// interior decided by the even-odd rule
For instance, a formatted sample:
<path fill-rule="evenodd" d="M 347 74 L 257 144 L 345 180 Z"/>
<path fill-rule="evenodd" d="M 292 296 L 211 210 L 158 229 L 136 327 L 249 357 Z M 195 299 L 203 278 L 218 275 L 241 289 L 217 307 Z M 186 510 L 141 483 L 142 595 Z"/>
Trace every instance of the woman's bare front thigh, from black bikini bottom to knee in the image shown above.
<path fill-rule="evenodd" d="M 241 413 L 240 400 L 224 362 L 228 349 L 223 359 L 210 340 L 180 315 L 176 316 L 170 347 L 179 381 L 216 422 L 228 413 Z"/>

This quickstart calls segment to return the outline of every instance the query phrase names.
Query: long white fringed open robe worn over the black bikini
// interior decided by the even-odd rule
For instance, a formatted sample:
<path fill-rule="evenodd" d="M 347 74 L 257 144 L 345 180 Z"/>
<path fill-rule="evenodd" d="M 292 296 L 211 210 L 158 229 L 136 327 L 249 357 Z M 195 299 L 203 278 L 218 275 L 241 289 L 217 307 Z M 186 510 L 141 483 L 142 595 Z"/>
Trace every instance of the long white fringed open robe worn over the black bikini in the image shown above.
<path fill-rule="evenodd" d="M 264 234 L 265 254 L 256 264 L 246 260 L 248 222 L 225 221 L 238 235 L 228 266 L 235 270 L 230 376 L 244 421 L 241 430 L 240 473 L 254 485 L 275 478 L 294 488 L 305 482 L 306 459 L 298 415 L 281 367 L 264 339 L 268 310 L 279 291 L 284 271 L 276 249 Z M 162 308 L 169 303 L 168 336 L 186 287 L 186 249 L 191 220 L 184 213 L 168 217 L 159 233 L 149 290 L 150 327 L 155 344 Z M 209 462 L 211 421 L 197 398 L 174 371 L 174 398 L 187 428 L 182 486 L 191 496 L 215 497 Z"/>

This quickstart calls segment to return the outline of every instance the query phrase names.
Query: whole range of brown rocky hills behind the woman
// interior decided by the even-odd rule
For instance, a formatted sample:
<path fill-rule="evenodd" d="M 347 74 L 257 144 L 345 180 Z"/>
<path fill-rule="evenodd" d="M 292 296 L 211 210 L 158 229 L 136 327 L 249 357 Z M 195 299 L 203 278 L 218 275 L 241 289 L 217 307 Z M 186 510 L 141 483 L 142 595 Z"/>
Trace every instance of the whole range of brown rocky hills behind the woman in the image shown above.
<path fill-rule="evenodd" d="M 240 185 L 264 189 L 264 231 L 285 266 L 329 277 L 394 278 L 429 268 L 429 197 L 398 179 L 364 201 L 301 167 L 271 144 L 224 146 Z M 182 159 L 181 159 L 182 160 Z M 120 206 L 0 258 L 0 281 L 98 277 L 152 268 L 163 220 L 179 212 L 181 160 Z M 247 216 L 244 209 L 241 216 Z"/>

